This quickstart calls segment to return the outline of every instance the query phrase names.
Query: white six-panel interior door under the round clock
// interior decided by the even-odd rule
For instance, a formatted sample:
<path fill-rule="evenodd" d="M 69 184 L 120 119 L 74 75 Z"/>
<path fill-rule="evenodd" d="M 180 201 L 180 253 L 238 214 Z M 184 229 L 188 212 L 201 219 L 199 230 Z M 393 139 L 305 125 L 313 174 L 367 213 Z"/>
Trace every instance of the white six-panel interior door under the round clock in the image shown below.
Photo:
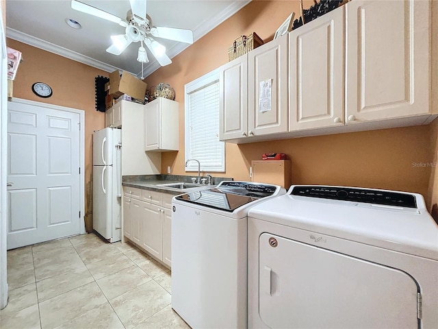
<path fill-rule="evenodd" d="M 8 103 L 8 249 L 79 234 L 80 115 Z"/>

